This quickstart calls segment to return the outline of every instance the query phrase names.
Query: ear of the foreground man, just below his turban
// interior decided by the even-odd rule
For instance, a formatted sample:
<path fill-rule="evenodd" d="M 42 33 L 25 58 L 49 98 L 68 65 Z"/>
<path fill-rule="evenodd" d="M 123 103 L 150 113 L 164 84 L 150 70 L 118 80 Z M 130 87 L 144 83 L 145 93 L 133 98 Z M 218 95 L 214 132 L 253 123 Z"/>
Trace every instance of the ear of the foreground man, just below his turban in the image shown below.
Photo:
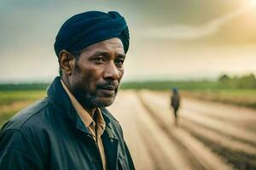
<path fill-rule="evenodd" d="M 73 54 L 69 53 L 67 50 L 61 50 L 59 54 L 59 65 L 62 73 L 70 76 L 74 68 L 75 57 Z"/>

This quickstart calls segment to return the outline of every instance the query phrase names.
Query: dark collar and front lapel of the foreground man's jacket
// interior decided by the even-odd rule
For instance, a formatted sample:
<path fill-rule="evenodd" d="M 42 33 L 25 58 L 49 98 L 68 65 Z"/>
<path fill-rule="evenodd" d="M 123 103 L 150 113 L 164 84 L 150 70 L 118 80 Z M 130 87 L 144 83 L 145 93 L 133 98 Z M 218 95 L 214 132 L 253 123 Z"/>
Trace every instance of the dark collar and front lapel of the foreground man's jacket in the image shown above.
<path fill-rule="evenodd" d="M 88 128 L 84 126 L 79 114 L 74 109 L 67 92 L 61 85 L 61 77 L 55 77 L 55 80 L 49 85 L 47 90 L 48 99 L 56 111 L 61 112 L 67 117 L 71 124 L 84 133 L 90 133 Z M 116 121 L 106 108 L 101 108 L 102 116 L 106 122 L 106 128 L 102 134 L 102 142 L 105 150 L 105 155 L 108 160 L 108 169 L 116 169 L 119 138 L 113 132 L 113 121 Z"/>

